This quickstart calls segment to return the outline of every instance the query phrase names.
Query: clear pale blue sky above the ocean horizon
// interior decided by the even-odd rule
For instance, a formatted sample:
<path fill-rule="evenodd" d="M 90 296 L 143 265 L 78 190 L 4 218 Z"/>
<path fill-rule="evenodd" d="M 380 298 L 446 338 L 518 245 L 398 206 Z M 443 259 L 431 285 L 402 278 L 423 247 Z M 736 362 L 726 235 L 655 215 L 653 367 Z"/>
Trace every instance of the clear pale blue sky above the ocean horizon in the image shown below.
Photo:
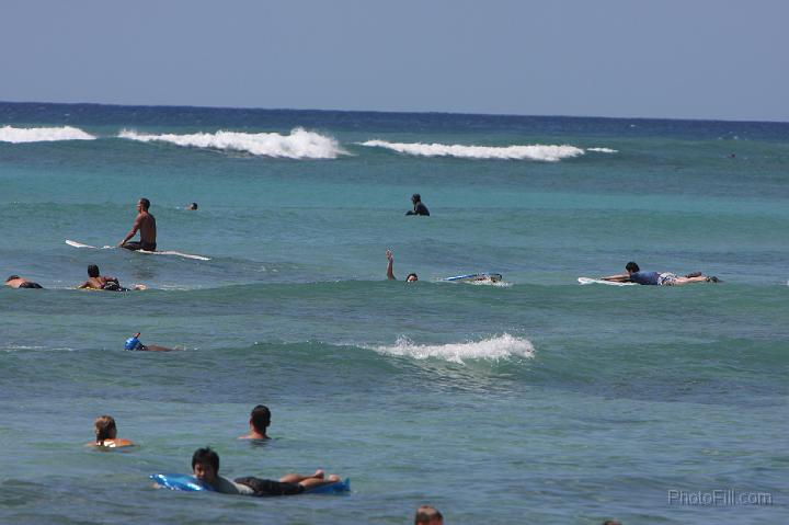
<path fill-rule="evenodd" d="M 789 121 L 785 0 L 25 0 L 0 101 Z"/>

